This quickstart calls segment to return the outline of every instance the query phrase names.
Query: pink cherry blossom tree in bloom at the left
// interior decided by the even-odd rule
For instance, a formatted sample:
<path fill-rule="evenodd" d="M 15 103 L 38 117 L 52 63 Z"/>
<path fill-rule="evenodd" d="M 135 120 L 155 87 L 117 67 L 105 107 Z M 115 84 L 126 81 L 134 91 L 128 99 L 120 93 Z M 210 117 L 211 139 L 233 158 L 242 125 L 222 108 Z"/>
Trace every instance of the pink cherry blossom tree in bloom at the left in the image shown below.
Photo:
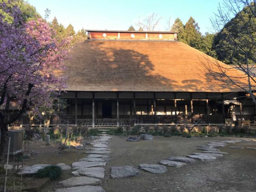
<path fill-rule="evenodd" d="M 68 57 L 68 40 L 59 41 L 43 19 L 26 21 L 19 8 L 1 3 L 0 9 L 0 165 L 4 162 L 7 125 L 28 110 L 36 113 L 40 105 L 52 105 L 50 93 L 58 96 L 65 88 L 63 70 Z M 5 21 L 6 15 L 13 21 Z M 10 106 L 16 104 L 16 110 Z M 9 116 L 11 111 L 11 115 Z"/>

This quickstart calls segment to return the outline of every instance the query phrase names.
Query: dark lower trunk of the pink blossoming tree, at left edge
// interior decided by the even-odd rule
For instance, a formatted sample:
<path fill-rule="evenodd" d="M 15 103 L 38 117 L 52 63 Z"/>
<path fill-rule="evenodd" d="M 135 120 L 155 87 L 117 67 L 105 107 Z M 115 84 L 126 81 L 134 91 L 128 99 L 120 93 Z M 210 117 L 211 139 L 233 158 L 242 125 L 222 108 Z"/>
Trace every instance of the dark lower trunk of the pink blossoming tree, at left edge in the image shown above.
<path fill-rule="evenodd" d="M 5 150 L 6 144 L 8 139 L 8 128 L 7 125 L 0 125 L 1 128 L 1 144 L 0 144 L 0 167 L 4 166 L 4 157 L 5 157 Z"/>

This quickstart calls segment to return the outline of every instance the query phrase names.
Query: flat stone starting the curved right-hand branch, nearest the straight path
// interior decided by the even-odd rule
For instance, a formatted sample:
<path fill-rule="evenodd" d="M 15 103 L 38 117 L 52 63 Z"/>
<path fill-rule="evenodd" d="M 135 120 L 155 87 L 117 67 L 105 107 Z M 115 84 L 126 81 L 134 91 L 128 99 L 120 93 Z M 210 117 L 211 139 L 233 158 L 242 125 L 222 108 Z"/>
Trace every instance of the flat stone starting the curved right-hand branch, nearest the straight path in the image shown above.
<path fill-rule="evenodd" d="M 140 175 L 138 169 L 131 166 L 111 167 L 110 176 L 112 179 L 127 178 Z"/>

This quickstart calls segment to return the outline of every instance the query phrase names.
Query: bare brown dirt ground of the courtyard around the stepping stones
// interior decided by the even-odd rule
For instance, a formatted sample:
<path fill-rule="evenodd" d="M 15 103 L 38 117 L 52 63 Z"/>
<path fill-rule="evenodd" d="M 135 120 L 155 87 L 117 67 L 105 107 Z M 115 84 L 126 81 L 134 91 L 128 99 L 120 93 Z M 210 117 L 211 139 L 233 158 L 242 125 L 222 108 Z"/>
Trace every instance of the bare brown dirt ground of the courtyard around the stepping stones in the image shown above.
<path fill-rule="evenodd" d="M 164 174 L 140 171 L 140 176 L 125 179 L 111 179 L 111 166 L 134 166 L 140 163 L 158 164 L 169 156 L 186 156 L 197 150 L 198 145 L 235 138 L 165 138 L 155 136 L 153 141 L 127 142 L 125 138 L 113 136 L 110 147 L 110 161 L 107 163 L 102 187 L 106 192 L 148 192 L 148 191 L 256 191 L 256 147 L 255 142 L 238 142 L 229 146 L 243 146 L 244 149 L 221 148 L 228 152 L 215 162 L 197 162 L 181 168 L 168 167 Z M 31 150 L 39 154 L 25 161 L 25 165 L 66 163 L 71 165 L 86 155 L 82 149 L 68 149 L 59 153 L 58 143 L 45 146 L 45 142 L 33 143 Z M 10 162 L 12 164 L 12 162 Z M 57 189 L 58 181 L 72 177 L 72 171 L 63 171 L 60 179 L 49 183 L 42 192 Z"/>

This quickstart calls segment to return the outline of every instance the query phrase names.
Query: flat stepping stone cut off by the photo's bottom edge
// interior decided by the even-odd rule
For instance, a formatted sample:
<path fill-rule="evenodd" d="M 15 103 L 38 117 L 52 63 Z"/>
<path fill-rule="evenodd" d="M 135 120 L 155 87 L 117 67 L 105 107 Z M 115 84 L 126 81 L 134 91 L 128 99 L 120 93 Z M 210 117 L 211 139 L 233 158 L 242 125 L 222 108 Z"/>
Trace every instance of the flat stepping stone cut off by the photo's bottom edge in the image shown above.
<path fill-rule="evenodd" d="M 57 189 L 55 192 L 105 192 L 105 190 L 100 186 L 77 186 Z"/>

